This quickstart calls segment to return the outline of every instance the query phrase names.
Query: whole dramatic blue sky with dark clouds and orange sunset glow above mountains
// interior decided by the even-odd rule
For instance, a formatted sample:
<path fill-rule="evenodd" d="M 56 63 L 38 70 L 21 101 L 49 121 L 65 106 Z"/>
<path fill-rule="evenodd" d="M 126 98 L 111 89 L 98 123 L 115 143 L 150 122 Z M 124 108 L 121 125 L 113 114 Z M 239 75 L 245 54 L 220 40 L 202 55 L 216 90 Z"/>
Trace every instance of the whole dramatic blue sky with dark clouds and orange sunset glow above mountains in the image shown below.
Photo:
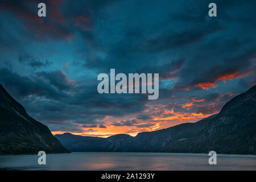
<path fill-rule="evenodd" d="M 214 1 L 214 18 L 210 2 L 0 0 L 0 83 L 53 134 L 199 121 L 256 83 L 256 1 Z M 110 68 L 159 73 L 158 100 L 99 94 Z"/>

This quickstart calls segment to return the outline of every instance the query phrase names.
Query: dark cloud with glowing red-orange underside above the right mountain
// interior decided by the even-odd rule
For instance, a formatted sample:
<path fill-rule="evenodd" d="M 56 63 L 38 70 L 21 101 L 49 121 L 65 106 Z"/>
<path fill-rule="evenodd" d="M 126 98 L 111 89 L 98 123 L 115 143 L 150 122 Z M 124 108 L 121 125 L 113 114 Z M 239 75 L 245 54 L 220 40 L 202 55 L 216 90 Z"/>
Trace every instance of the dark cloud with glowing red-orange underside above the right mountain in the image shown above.
<path fill-rule="evenodd" d="M 251 59 L 253 59 L 255 53 L 256 51 L 253 50 L 243 53 L 242 55 L 230 55 L 228 59 L 224 57 L 220 63 L 216 63 L 215 65 L 202 63 L 205 66 L 204 69 L 195 70 L 196 74 L 193 77 L 191 77 L 194 71 L 193 69 L 196 69 L 197 65 L 200 64 L 200 60 L 188 62 L 187 67 L 180 72 L 181 81 L 176 83 L 175 88 L 191 89 L 195 86 L 200 87 L 199 84 L 216 86 L 218 81 L 254 75 L 256 67 Z M 216 59 L 218 58 L 216 57 Z"/>

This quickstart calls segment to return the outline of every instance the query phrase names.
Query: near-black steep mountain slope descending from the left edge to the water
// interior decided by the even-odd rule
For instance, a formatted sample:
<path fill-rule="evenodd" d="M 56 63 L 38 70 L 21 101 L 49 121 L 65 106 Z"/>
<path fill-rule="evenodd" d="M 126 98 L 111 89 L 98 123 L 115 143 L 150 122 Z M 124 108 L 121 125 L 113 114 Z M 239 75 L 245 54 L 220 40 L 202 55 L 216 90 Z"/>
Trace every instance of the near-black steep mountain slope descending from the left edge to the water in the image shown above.
<path fill-rule="evenodd" d="M 47 126 L 31 118 L 0 84 L 0 154 L 69 152 Z"/>

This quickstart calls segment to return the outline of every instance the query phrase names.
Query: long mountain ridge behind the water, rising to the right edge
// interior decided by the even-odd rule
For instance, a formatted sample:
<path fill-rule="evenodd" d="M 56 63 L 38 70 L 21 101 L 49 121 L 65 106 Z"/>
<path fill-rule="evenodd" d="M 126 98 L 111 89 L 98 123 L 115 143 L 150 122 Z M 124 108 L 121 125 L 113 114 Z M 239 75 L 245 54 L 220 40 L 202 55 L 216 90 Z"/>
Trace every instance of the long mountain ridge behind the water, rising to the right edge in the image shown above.
<path fill-rule="evenodd" d="M 64 136 L 68 135 L 68 143 Z M 56 135 L 70 151 L 256 154 L 256 85 L 196 123 L 108 138 Z"/>

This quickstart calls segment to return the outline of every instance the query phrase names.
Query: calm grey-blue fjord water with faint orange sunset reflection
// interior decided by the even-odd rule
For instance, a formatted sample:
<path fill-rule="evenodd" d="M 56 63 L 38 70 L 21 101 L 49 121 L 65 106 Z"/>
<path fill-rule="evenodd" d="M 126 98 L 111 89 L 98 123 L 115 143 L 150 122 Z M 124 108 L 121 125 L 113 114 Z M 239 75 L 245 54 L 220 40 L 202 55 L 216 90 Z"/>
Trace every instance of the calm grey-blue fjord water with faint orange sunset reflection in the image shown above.
<path fill-rule="evenodd" d="M 38 155 L 2 155 L 0 169 L 7 170 L 256 170 L 255 155 L 217 154 L 209 165 L 208 154 L 72 152 L 48 154 L 46 165 Z"/>

